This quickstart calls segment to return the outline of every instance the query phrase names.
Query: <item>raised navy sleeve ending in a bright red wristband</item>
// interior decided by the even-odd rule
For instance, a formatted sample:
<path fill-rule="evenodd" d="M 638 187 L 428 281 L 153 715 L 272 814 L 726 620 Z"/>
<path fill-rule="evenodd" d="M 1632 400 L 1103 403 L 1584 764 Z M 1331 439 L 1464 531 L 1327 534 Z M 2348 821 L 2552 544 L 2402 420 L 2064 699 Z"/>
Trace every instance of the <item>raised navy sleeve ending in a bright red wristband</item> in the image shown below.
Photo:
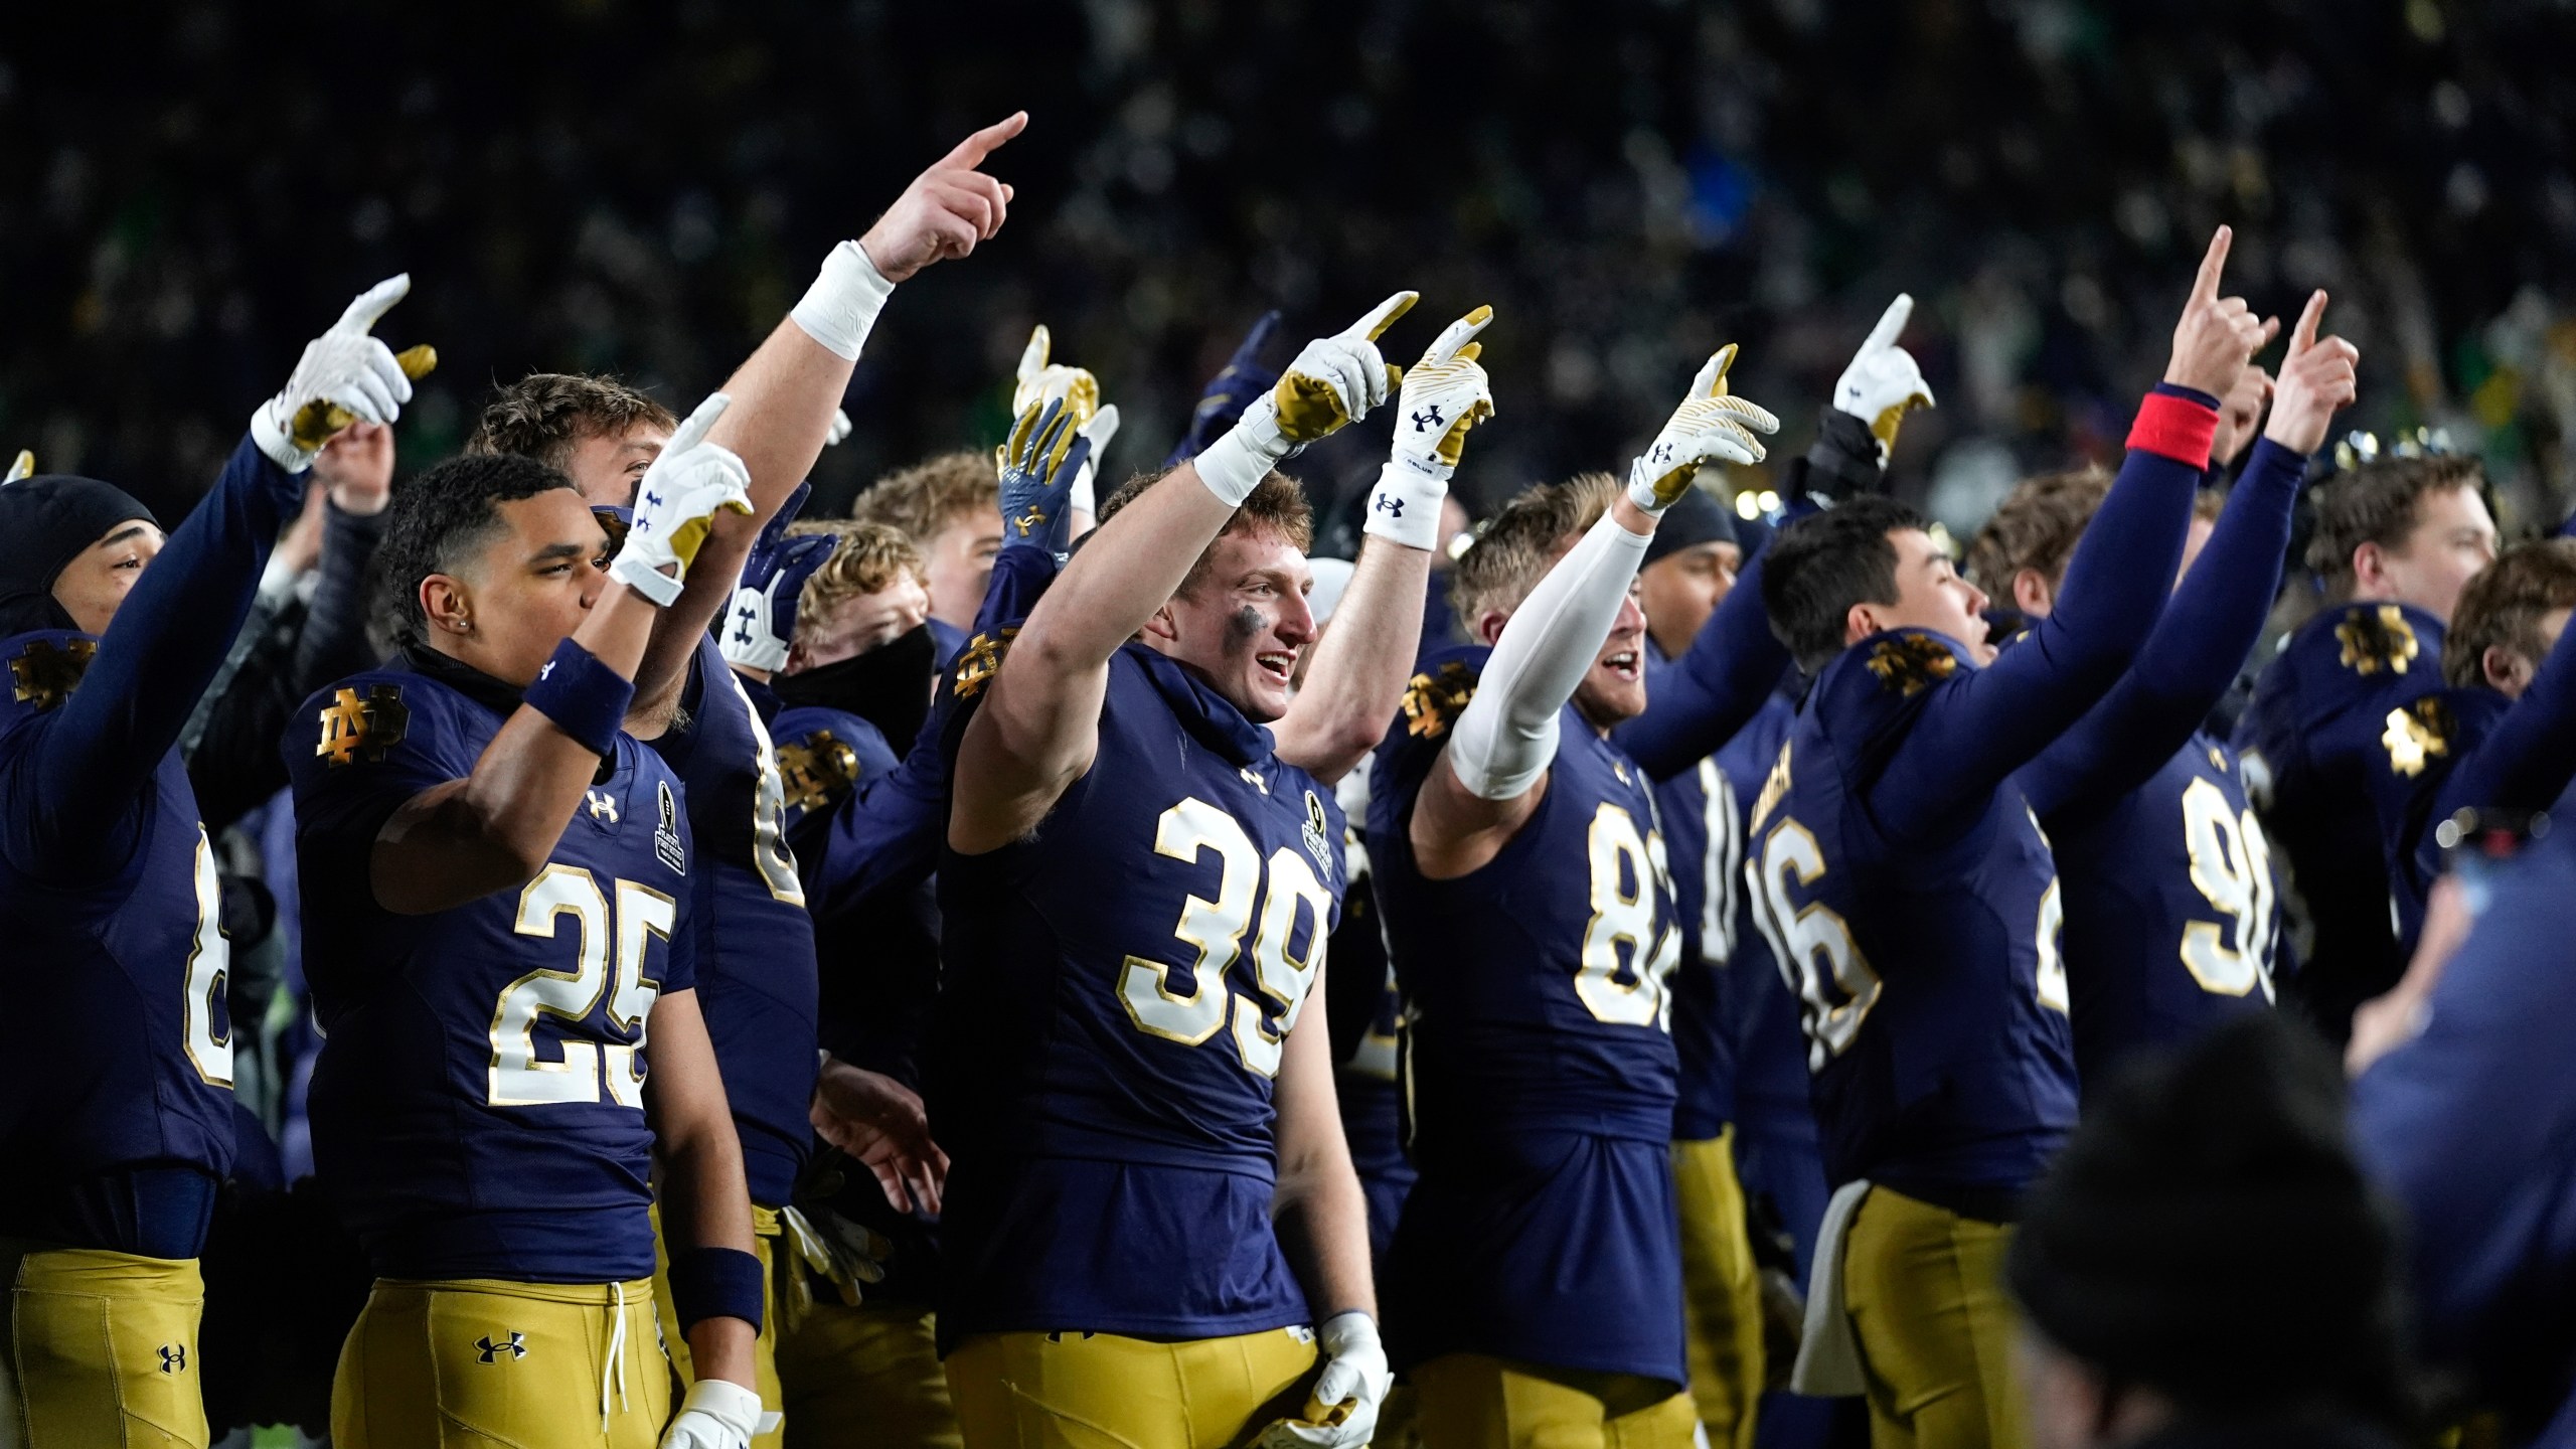
<path fill-rule="evenodd" d="M 1958 825 L 2120 678 L 2174 585 L 2215 425 L 2215 397 L 2156 384 L 2058 608 L 1991 665 L 1932 691 L 1888 753 L 1868 807 L 1891 841 Z"/>

